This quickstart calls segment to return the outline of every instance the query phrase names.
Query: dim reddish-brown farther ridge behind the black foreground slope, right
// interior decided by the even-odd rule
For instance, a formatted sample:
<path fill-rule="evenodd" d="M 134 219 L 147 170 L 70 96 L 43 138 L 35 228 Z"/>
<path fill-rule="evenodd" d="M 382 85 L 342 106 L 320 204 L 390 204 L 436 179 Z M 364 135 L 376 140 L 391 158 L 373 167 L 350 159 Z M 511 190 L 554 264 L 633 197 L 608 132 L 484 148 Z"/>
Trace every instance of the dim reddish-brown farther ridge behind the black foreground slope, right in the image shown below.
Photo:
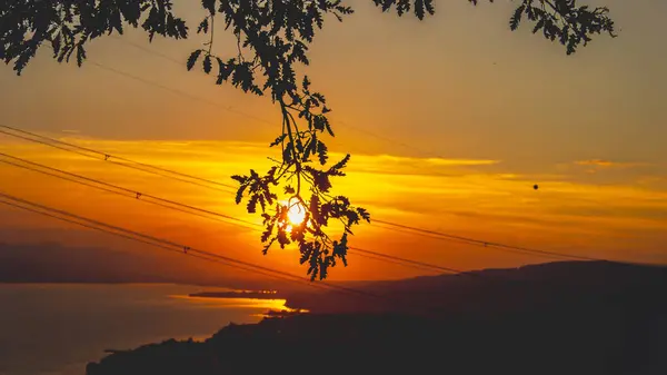
<path fill-rule="evenodd" d="M 552 308 L 559 304 L 614 303 L 615 298 L 667 295 L 667 267 L 611 261 L 557 261 L 508 269 L 366 283 L 376 298 L 341 292 L 288 295 L 291 307 L 320 313 L 418 309 L 484 313 Z"/>

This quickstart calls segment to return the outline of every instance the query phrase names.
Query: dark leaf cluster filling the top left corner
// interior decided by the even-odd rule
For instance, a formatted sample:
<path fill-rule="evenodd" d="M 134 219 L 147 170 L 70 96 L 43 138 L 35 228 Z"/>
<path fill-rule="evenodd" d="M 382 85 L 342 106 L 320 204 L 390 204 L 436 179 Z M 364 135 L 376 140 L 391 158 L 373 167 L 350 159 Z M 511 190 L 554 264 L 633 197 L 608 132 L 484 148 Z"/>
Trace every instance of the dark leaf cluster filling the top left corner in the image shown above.
<path fill-rule="evenodd" d="M 81 66 L 89 41 L 122 34 L 126 26 L 143 29 L 149 40 L 188 36 L 170 0 L 0 0 L 0 59 L 13 61 L 20 75 L 38 48 L 49 43 L 56 60 L 69 62 L 76 56 Z"/>

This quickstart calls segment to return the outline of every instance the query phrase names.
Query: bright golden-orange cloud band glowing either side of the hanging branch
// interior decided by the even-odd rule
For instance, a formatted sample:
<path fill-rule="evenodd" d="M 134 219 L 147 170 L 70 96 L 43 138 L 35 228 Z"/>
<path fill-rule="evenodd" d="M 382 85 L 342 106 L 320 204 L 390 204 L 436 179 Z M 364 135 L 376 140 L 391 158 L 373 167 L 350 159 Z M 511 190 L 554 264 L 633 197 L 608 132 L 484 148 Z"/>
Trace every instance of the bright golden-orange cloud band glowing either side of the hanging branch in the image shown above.
<path fill-rule="evenodd" d="M 232 184 L 231 175 L 272 164 L 263 144 L 239 141 L 118 141 L 82 139 L 67 141 L 220 182 Z M 74 171 L 161 198 L 203 209 L 256 220 L 245 207 L 233 203 L 231 191 L 218 191 L 181 184 L 139 171 L 120 168 L 103 160 L 50 149 L 46 146 L 0 142 L 2 152 Z M 270 152 L 270 151 L 269 151 Z M 341 158 L 331 154 L 331 160 Z M 1 158 L 0 158 L 1 159 Z M 605 160 L 590 164 L 606 165 Z M 505 241 L 545 249 L 565 249 L 584 255 L 616 258 L 655 258 L 655 249 L 667 240 L 667 190 L 647 189 L 631 184 L 593 185 L 570 178 L 567 171 L 545 170 L 535 176 L 521 170 L 501 170 L 498 160 L 457 160 L 352 155 L 348 175 L 337 178 L 336 194 L 348 195 L 369 209 L 371 218 L 442 230 L 485 240 Z M 550 174 L 554 172 L 554 174 Z M 216 223 L 136 199 L 109 196 L 103 191 L 57 180 L 0 164 L 2 189 L 8 194 L 68 209 L 92 218 L 145 230 L 153 235 L 195 243 L 203 248 L 222 246 L 243 259 L 276 261 L 299 272 L 292 251 L 276 251 L 270 259 L 260 255 L 258 234 Z M 549 180 L 540 179 L 549 176 Z M 532 185 L 540 182 L 535 191 Z M 7 219 L 7 211 L 0 217 Z M 4 220 L 3 220 L 4 221 Z M 41 221 L 40 221 L 41 223 Z M 43 226 L 21 221 L 36 231 Z M 356 230 L 356 245 L 388 254 L 454 267 L 507 265 L 498 255 L 451 247 L 432 238 L 388 231 L 379 225 Z M 222 244 L 222 245 L 221 245 Z M 627 246 L 635 245 L 633 251 Z M 573 248 L 573 246 L 575 248 Z M 232 247 L 228 249 L 228 247 Z M 444 251 L 447 249 L 447 251 Z M 611 256 L 609 256 L 611 257 Z M 651 259 L 654 259 L 651 258 Z M 514 263 L 536 259 L 515 256 Z M 537 259 L 539 260 L 539 259 Z M 386 265 L 356 260 L 372 268 L 372 277 L 387 276 Z M 364 277 L 356 266 L 351 273 Z M 370 275 L 370 274 L 368 274 Z M 347 276 L 341 276 L 347 277 Z"/>

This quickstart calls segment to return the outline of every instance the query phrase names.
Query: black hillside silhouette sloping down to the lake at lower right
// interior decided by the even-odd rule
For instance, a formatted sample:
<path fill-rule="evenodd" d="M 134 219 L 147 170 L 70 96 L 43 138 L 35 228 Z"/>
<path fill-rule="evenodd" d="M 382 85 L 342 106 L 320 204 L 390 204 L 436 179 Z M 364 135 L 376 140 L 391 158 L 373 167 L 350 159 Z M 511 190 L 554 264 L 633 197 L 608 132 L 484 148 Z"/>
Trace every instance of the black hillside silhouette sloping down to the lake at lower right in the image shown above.
<path fill-rule="evenodd" d="M 293 295 L 292 305 L 339 314 L 229 325 L 203 343 L 112 354 L 87 374 L 667 374 L 664 267 L 552 263 L 365 290 L 399 302 L 381 310 L 367 298 Z M 415 316 L 427 307 L 440 315 Z"/>

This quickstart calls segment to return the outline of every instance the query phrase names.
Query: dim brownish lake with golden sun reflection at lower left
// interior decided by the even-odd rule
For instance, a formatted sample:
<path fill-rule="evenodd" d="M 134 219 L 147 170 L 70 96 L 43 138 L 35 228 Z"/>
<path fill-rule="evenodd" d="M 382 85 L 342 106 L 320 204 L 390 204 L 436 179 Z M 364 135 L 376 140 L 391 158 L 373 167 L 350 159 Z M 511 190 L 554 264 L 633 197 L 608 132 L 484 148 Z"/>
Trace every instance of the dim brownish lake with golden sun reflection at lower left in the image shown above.
<path fill-rule="evenodd" d="M 0 375 L 82 375 L 104 349 L 205 339 L 285 300 L 190 298 L 183 285 L 0 284 Z"/>

